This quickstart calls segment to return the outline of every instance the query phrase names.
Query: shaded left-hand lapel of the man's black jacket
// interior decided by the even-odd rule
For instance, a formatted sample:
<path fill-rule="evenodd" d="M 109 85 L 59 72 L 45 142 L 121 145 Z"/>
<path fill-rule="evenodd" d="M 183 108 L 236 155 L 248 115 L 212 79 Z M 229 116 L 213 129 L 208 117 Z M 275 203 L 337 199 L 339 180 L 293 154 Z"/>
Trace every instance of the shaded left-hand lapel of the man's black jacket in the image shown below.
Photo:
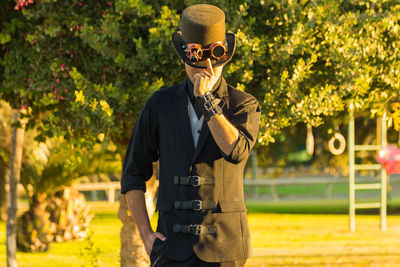
<path fill-rule="evenodd" d="M 178 129 L 180 129 L 180 133 L 182 135 L 183 145 L 185 146 L 186 152 L 188 153 L 188 158 L 192 158 L 195 153 L 193 137 L 192 137 L 192 129 L 190 126 L 189 120 L 189 106 L 187 102 L 186 96 L 186 80 L 180 84 L 178 87 L 176 94 L 177 97 L 174 101 L 174 109 L 175 116 L 177 121 Z"/>

